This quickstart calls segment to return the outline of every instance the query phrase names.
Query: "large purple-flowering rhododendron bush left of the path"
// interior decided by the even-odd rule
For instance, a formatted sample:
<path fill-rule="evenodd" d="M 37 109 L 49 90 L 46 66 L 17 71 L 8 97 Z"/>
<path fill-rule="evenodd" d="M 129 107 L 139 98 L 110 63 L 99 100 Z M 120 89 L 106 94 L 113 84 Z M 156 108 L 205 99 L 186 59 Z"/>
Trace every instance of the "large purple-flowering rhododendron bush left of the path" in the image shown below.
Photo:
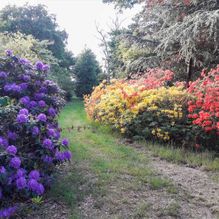
<path fill-rule="evenodd" d="M 56 118 L 62 91 L 47 80 L 48 70 L 10 50 L 0 58 L 0 218 L 13 215 L 16 203 L 41 196 L 55 165 L 71 159 Z"/>

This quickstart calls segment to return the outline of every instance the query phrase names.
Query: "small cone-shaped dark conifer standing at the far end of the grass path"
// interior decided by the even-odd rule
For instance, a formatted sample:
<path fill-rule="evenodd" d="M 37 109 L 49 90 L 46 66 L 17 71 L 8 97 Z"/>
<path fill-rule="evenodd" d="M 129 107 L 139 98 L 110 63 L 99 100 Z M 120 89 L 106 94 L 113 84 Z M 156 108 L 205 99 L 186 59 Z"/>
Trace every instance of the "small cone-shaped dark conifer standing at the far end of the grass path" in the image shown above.
<path fill-rule="evenodd" d="M 97 77 L 101 72 L 96 56 L 90 49 L 85 49 L 76 60 L 74 73 L 76 75 L 76 95 L 90 94 L 93 86 L 97 85 Z"/>

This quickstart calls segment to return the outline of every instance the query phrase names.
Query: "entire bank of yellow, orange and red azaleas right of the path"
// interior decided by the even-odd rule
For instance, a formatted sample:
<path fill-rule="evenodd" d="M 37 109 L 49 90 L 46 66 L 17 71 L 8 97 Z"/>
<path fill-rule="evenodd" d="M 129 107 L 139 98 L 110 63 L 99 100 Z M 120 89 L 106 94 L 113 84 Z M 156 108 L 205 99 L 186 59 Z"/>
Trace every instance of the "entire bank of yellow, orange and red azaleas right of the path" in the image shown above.
<path fill-rule="evenodd" d="M 218 69 L 202 73 L 189 89 L 173 76 L 152 69 L 140 79 L 104 81 L 85 97 L 87 115 L 129 137 L 218 148 Z"/>

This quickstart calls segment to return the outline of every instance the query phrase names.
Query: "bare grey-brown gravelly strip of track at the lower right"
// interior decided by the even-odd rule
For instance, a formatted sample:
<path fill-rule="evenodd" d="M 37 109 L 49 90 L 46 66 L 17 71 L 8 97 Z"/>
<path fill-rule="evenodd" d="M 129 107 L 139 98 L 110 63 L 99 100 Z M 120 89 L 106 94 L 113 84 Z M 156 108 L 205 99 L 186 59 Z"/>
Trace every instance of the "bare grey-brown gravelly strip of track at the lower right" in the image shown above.
<path fill-rule="evenodd" d="M 212 180 L 210 173 L 159 158 L 152 158 L 151 166 L 160 175 L 171 179 L 175 185 L 189 194 L 193 203 L 204 206 L 201 218 L 218 218 L 219 183 Z"/>

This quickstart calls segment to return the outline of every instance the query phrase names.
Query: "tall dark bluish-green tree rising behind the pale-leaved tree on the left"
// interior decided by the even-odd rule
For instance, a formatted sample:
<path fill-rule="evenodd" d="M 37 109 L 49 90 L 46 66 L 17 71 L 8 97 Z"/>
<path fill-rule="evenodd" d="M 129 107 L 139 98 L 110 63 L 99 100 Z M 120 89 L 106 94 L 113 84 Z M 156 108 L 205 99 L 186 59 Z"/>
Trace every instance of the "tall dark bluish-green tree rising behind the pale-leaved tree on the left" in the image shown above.
<path fill-rule="evenodd" d="M 55 15 L 49 14 L 44 5 L 6 6 L 0 12 L 0 31 L 21 32 L 33 35 L 40 41 L 48 40 L 51 42 L 48 48 L 60 60 L 60 66 L 68 68 L 74 63 L 73 57 L 65 49 L 68 38 L 66 31 L 60 30 Z"/>

